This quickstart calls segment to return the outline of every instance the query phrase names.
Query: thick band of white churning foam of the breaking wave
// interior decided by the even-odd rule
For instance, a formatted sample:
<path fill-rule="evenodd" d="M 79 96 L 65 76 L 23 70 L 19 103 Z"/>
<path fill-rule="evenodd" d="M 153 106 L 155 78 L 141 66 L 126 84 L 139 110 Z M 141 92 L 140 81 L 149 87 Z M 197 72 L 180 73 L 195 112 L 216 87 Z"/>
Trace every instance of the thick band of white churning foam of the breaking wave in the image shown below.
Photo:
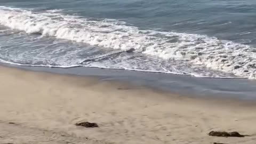
<path fill-rule="evenodd" d="M 122 51 L 132 50 L 171 60 L 175 64 L 185 63 L 196 70 L 206 68 L 250 78 L 255 78 L 256 74 L 255 47 L 215 37 L 140 30 L 116 20 L 85 19 L 56 11 L 33 12 L 2 6 L 0 15 L 0 25 L 26 33 Z"/>

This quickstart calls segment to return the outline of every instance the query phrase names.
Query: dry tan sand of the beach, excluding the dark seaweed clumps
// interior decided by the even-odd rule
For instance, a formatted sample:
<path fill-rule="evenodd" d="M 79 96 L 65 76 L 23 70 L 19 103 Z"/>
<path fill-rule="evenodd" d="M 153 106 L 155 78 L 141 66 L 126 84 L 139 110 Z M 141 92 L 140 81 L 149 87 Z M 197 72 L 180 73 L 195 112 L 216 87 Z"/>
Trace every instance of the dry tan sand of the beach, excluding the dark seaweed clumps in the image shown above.
<path fill-rule="evenodd" d="M 0 79 L 0 143 L 256 143 L 253 102 L 6 67 Z M 84 121 L 100 127 L 74 125 Z M 211 130 L 252 136 L 210 137 Z"/>

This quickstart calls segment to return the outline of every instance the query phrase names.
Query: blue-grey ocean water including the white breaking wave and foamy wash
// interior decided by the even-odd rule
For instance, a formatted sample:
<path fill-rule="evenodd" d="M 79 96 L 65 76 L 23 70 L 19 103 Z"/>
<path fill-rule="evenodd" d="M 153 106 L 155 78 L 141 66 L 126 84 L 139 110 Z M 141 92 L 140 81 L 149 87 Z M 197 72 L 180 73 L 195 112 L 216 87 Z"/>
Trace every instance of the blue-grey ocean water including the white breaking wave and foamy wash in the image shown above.
<path fill-rule="evenodd" d="M 0 0 L 0 61 L 255 78 L 256 1 Z"/>

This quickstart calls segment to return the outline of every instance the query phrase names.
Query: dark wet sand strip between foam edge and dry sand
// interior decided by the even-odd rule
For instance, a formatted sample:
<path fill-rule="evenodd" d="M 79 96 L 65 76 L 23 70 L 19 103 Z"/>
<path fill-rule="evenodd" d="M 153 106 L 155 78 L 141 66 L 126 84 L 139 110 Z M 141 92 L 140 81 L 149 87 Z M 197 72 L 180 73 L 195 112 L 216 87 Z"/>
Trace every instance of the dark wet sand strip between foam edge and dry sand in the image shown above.
<path fill-rule="evenodd" d="M 52 74 L 92 76 L 102 80 L 121 81 L 175 94 L 194 95 L 195 97 L 202 98 L 218 97 L 246 101 L 256 100 L 256 81 L 251 79 L 201 78 L 186 75 L 91 67 L 49 68 L 15 66 L 4 63 L 1 63 L 0 66 Z"/>

